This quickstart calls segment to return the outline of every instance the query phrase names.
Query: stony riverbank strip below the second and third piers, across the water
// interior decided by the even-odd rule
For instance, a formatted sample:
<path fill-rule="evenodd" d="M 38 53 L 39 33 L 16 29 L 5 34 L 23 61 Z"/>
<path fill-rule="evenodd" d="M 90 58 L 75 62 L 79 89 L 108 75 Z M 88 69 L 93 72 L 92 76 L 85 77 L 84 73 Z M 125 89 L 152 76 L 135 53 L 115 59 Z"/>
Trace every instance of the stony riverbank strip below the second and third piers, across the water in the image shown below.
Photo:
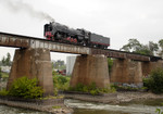
<path fill-rule="evenodd" d="M 110 103 L 118 104 L 122 102 L 129 102 L 139 99 L 163 99 L 163 94 L 154 94 L 151 92 L 115 92 L 115 93 L 104 93 L 102 96 L 91 96 L 84 93 L 64 93 L 66 99 L 75 99 L 82 101 L 99 102 L 99 103 Z"/>

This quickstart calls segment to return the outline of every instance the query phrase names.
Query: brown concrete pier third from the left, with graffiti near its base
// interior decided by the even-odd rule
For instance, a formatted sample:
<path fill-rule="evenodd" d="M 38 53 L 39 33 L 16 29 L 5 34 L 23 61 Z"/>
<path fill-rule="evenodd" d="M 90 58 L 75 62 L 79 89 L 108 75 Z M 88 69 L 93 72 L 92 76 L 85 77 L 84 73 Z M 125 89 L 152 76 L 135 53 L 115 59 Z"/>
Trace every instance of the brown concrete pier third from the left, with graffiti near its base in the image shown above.
<path fill-rule="evenodd" d="M 141 63 L 129 59 L 114 60 L 111 73 L 111 83 L 141 85 Z"/>

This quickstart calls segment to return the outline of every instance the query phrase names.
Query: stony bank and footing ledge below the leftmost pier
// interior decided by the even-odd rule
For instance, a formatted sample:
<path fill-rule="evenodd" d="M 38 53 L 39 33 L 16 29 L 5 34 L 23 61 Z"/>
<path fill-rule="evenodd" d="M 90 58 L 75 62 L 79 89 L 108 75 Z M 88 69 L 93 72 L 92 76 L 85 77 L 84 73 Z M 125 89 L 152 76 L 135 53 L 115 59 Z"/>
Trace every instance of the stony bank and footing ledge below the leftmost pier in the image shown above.
<path fill-rule="evenodd" d="M 16 98 L 0 97 L 0 104 L 36 110 L 51 114 L 67 114 L 73 110 L 64 105 L 64 99 L 48 99 L 48 100 L 23 100 Z"/>

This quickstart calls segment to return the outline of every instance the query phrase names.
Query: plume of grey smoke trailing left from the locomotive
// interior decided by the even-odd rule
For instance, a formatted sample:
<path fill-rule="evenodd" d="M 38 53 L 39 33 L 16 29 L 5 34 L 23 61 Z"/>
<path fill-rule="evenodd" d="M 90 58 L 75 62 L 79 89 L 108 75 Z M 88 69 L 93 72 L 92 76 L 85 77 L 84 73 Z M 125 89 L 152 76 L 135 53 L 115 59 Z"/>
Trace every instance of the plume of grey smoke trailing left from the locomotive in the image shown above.
<path fill-rule="evenodd" d="M 24 11 L 30 17 L 36 17 L 39 20 L 47 20 L 49 22 L 54 22 L 48 13 L 36 11 L 30 4 L 25 3 L 23 0 L 0 0 L 1 4 L 4 4 L 12 12 Z"/>

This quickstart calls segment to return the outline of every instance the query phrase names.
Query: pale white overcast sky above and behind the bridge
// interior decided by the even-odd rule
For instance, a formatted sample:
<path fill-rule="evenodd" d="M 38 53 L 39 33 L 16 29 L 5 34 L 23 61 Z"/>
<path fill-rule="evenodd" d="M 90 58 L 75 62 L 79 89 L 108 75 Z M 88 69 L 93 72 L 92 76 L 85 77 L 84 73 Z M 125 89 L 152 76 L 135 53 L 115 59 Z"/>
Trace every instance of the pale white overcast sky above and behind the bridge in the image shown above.
<path fill-rule="evenodd" d="M 0 31 L 43 38 L 43 25 L 52 17 L 110 37 L 110 48 L 117 50 L 129 38 L 141 43 L 163 38 L 163 0 L 0 0 Z M 14 50 L 0 52 L 1 59 Z M 53 53 L 52 60 L 66 55 Z"/>

